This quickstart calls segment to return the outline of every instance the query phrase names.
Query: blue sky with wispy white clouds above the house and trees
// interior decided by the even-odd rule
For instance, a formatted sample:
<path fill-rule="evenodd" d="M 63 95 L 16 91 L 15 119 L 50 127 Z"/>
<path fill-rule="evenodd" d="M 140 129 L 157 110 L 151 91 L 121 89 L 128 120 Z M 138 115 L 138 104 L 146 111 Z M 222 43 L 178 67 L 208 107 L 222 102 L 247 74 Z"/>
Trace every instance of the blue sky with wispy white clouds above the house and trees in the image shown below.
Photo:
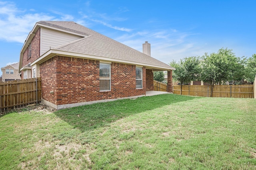
<path fill-rule="evenodd" d="M 256 0 L 0 0 L 0 67 L 19 61 L 41 20 L 75 21 L 168 64 L 216 53 L 256 53 Z M 2 75 L 2 72 L 0 72 Z"/>

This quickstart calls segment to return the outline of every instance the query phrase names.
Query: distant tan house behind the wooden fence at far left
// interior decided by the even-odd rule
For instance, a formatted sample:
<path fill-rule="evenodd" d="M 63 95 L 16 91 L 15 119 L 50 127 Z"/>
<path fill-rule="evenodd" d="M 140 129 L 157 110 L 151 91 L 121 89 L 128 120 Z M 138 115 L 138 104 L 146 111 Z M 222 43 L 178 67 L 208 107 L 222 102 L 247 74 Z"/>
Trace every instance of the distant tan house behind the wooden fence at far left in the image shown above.
<path fill-rule="evenodd" d="M 19 75 L 19 63 L 10 64 L 8 66 L 2 67 L 2 81 L 10 81 L 10 80 L 20 80 Z"/>

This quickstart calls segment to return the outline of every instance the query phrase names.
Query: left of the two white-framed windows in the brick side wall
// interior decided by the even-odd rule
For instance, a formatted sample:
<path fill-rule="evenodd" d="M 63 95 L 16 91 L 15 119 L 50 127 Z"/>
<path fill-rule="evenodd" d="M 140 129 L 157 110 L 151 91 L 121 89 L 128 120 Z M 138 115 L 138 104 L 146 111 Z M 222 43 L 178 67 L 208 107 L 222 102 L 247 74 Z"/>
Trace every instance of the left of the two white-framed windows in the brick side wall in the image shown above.
<path fill-rule="evenodd" d="M 100 91 L 110 90 L 110 64 L 100 63 Z"/>

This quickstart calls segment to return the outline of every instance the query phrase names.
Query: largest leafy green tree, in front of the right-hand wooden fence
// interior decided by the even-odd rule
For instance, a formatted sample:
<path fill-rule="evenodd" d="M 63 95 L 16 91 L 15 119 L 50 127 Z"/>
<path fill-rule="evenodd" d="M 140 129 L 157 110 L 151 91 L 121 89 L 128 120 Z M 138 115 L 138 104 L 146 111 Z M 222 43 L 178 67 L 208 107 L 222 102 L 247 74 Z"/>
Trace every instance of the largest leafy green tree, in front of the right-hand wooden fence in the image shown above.
<path fill-rule="evenodd" d="M 232 53 L 232 49 L 220 49 L 218 53 L 211 53 L 202 57 L 201 80 L 211 84 L 211 97 L 216 83 L 229 80 L 241 80 L 244 76 L 245 60 Z"/>

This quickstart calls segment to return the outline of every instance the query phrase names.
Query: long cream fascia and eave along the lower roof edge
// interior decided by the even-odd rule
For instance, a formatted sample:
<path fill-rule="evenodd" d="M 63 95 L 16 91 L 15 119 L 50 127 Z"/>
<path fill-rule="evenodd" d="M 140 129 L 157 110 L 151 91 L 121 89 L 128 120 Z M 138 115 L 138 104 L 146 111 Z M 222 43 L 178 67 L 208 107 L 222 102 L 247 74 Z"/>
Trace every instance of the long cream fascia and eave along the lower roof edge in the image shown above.
<path fill-rule="evenodd" d="M 36 61 L 31 63 L 31 65 L 34 65 L 36 63 L 39 63 L 39 64 L 43 63 L 44 61 L 50 59 L 51 57 L 54 57 L 55 55 L 76 57 L 76 58 L 81 58 L 81 59 L 92 59 L 92 60 L 105 61 L 105 62 L 132 64 L 132 65 L 137 65 L 137 66 L 146 66 L 147 68 L 153 68 L 153 69 L 175 70 L 175 68 L 173 69 L 173 68 L 164 67 L 164 66 L 156 66 L 156 65 L 152 65 L 152 64 L 137 63 L 137 62 L 133 62 L 133 61 L 125 61 L 125 60 L 120 60 L 120 59 L 111 59 L 111 58 L 107 58 L 107 57 L 99 57 L 99 56 L 94 56 L 94 55 L 86 55 L 86 54 L 80 54 L 80 53 L 58 51 L 58 50 L 54 50 L 54 49 L 50 49 L 49 51 L 44 53 L 41 57 L 36 59 Z"/>

